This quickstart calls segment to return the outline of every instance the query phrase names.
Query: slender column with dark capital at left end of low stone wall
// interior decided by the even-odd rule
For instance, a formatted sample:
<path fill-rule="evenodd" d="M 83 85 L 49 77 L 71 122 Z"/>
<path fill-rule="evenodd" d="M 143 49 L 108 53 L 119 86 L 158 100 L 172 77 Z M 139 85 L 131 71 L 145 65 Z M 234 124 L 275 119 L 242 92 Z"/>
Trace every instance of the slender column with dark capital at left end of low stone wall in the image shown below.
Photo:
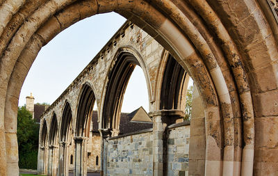
<path fill-rule="evenodd" d="M 111 137 L 112 129 L 99 129 L 99 133 L 101 135 L 101 164 L 100 164 L 100 175 L 106 175 L 106 163 L 107 163 L 107 141 L 106 139 Z"/>

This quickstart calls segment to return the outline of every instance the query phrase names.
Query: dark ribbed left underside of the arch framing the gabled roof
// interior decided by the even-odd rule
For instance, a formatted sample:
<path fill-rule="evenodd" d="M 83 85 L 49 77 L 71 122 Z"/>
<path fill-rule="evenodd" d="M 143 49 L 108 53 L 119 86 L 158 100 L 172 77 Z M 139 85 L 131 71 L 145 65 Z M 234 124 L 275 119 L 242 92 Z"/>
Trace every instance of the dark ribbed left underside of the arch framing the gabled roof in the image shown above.
<path fill-rule="evenodd" d="M 104 129 L 119 129 L 124 92 L 136 65 L 140 66 L 136 57 L 127 52 L 121 52 L 115 59 L 112 70 L 108 74 L 108 85 L 104 99 Z"/>

